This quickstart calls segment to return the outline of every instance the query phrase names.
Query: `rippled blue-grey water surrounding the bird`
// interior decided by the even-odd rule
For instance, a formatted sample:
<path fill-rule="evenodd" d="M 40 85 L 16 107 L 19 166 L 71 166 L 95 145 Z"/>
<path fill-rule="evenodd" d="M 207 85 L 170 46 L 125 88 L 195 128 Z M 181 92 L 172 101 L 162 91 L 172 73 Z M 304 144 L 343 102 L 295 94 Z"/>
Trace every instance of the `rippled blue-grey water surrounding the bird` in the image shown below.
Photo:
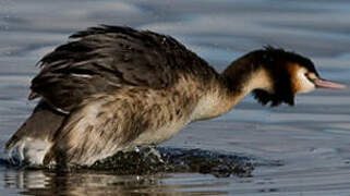
<path fill-rule="evenodd" d="M 73 32 L 119 24 L 169 34 L 218 71 L 248 51 L 273 45 L 311 57 L 323 77 L 350 85 L 349 21 L 346 0 L 0 0 L 1 148 L 35 106 L 26 100 L 29 81 L 38 72 L 35 63 Z M 162 146 L 222 150 L 267 163 L 257 164 L 252 177 L 220 179 L 200 173 L 50 172 L 0 164 L 0 192 L 349 195 L 350 88 L 298 96 L 293 108 L 261 107 L 248 97 L 227 115 L 190 124 Z"/>

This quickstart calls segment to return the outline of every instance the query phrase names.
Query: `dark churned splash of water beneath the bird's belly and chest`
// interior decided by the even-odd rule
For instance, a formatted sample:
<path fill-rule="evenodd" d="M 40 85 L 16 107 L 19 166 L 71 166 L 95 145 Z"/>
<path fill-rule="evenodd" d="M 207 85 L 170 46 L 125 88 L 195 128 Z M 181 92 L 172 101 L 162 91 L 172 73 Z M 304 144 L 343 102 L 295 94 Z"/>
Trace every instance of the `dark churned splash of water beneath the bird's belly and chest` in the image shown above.
<path fill-rule="evenodd" d="M 138 151 L 118 152 L 90 167 L 113 170 L 118 174 L 204 173 L 217 177 L 251 176 L 251 159 L 202 149 L 146 147 Z"/>

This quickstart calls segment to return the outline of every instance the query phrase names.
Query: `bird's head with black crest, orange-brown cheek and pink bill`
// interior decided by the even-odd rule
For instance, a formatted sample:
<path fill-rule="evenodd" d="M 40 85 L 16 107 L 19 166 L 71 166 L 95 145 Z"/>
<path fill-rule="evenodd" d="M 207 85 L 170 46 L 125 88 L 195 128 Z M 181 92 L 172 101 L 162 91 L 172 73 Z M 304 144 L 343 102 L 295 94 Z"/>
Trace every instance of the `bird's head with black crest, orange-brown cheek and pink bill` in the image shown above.
<path fill-rule="evenodd" d="M 252 52 L 251 58 L 267 75 L 269 85 L 253 90 L 254 98 L 262 105 L 294 105 L 294 96 L 316 88 L 345 88 L 345 85 L 319 77 L 313 62 L 294 52 L 266 47 Z"/>

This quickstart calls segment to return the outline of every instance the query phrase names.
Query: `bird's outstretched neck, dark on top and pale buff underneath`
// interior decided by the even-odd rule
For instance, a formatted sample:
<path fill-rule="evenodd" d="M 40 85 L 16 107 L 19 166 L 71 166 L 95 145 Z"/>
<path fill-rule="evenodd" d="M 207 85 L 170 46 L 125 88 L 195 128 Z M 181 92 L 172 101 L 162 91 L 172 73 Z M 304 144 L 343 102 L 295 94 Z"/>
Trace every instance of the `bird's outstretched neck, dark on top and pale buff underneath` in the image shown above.
<path fill-rule="evenodd" d="M 229 65 L 218 79 L 207 96 L 200 100 L 197 108 L 201 108 L 201 113 L 196 120 L 222 115 L 252 90 L 269 90 L 271 86 L 267 72 L 244 58 Z"/>

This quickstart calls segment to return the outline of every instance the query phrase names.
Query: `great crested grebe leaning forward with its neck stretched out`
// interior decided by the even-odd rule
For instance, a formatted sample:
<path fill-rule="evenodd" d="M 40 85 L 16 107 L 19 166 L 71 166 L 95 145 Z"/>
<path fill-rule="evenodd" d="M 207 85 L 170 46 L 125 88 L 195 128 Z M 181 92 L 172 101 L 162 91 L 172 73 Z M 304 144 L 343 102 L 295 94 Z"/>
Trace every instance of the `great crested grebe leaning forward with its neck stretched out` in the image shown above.
<path fill-rule="evenodd" d="M 171 138 L 186 124 L 230 111 L 249 93 L 263 105 L 294 105 L 298 93 L 343 88 L 311 60 L 267 47 L 221 74 L 170 36 L 92 27 L 40 60 L 32 115 L 7 143 L 10 159 L 85 164 Z"/>

